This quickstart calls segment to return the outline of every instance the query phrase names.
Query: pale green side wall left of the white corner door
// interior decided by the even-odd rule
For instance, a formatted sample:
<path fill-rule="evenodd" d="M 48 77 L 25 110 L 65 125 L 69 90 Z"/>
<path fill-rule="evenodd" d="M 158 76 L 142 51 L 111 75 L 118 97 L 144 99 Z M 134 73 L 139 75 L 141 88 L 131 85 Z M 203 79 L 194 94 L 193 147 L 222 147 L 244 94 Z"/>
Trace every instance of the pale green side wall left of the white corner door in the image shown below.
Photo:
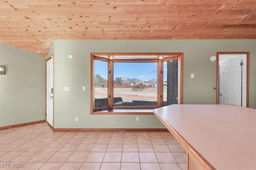
<path fill-rule="evenodd" d="M 0 43 L 0 127 L 45 119 L 45 58 Z"/>

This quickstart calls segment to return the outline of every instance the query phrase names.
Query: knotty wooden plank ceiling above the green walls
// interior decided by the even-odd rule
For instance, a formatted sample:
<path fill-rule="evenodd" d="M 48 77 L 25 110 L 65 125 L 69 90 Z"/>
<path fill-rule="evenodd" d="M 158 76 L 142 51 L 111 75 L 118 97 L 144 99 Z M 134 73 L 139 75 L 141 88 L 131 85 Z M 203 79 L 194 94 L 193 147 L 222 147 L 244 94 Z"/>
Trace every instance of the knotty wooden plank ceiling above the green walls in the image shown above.
<path fill-rule="evenodd" d="M 256 0 L 0 0 L 2 43 L 54 39 L 256 39 Z"/>

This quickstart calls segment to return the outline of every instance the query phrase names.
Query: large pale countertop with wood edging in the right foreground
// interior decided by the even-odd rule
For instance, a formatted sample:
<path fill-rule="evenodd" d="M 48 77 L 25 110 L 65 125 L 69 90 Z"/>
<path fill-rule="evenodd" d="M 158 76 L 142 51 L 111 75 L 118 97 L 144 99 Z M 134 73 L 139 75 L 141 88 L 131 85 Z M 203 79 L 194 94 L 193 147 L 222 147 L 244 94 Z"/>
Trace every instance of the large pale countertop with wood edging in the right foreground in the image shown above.
<path fill-rule="evenodd" d="M 217 170 L 256 170 L 256 109 L 183 104 L 153 112 Z"/>

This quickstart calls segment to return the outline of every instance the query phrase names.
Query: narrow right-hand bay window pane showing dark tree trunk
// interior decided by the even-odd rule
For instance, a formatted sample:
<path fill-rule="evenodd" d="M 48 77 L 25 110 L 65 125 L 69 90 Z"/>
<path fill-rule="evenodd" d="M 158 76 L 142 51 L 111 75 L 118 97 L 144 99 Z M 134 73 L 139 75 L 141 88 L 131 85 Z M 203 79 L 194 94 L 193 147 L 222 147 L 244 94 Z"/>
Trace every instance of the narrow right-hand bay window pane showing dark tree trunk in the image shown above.
<path fill-rule="evenodd" d="M 178 104 L 178 60 L 163 62 L 163 106 Z"/>

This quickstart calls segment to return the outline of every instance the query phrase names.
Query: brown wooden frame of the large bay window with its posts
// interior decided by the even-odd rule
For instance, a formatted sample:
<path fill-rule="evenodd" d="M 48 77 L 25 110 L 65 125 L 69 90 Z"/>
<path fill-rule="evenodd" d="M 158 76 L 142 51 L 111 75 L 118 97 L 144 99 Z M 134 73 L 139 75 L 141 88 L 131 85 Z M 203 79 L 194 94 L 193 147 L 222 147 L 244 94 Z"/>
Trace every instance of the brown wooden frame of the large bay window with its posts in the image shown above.
<path fill-rule="evenodd" d="M 98 56 L 138 56 L 138 59 L 107 59 Z M 175 56 L 168 57 L 164 59 L 141 59 L 139 56 L 144 55 L 163 55 L 163 56 Z M 102 109 L 97 109 L 94 107 L 94 61 L 106 61 L 108 62 L 108 106 Z M 163 62 L 170 60 L 178 60 L 178 104 L 183 104 L 183 53 L 91 53 L 91 104 L 90 113 L 91 114 L 154 114 L 153 109 L 163 106 Z M 114 63 L 157 63 L 157 106 L 113 106 L 113 96 L 114 96 L 114 78 L 113 78 L 113 65 Z"/>

